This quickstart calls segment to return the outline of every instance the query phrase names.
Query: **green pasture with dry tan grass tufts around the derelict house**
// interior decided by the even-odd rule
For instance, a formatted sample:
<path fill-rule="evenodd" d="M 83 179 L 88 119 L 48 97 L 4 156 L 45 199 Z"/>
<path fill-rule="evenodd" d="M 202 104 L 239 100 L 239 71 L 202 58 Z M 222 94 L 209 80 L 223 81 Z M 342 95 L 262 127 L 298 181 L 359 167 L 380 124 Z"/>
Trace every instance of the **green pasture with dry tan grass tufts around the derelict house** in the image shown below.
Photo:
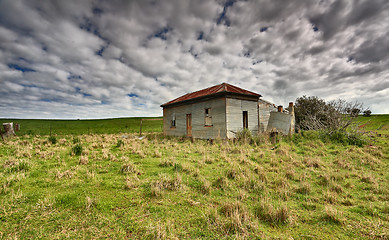
<path fill-rule="evenodd" d="M 0 238 L 388 239 L 388 116 L 361 117 L 363 147 L 25 120 L 0 141 Z"/>

